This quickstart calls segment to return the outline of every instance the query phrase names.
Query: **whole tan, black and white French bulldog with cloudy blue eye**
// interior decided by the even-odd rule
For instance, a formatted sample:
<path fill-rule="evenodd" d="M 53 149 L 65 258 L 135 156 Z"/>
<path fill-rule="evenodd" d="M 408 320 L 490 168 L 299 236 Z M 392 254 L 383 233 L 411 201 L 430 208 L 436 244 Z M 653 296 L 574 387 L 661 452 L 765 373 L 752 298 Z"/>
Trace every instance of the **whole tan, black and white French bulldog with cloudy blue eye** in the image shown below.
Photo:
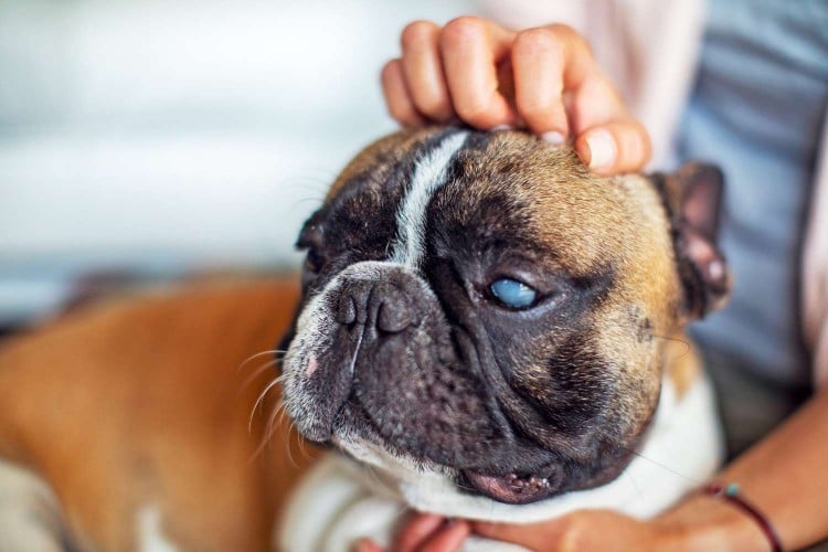
<path fill-rule="evenodd" d="M 105 301 L 0 343 L 0 550 L 347 550 L 405 508 L 654 514 L 720 460 L 682 333 L 730 285 L 720 189 L 701 164 L 598 178 L 514 131 L 370 146 L 301 231 L 300 286 Z M 279 388 L 337 452 L 301 454 Z"/>

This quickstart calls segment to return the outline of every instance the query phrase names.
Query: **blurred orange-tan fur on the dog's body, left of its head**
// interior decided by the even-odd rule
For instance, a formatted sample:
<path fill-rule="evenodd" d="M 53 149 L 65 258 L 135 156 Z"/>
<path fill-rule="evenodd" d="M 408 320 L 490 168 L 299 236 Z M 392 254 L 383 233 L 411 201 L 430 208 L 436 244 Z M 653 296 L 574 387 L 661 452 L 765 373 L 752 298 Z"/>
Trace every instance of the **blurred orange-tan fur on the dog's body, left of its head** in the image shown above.
<path fill-rule="evenodd" d="M 159 508 L 187 550 L 267 550 L 308 458 L 296 432 L 247 422 L 293 317 L 298 278 L 202 285 L 74 314 L 0 350 L 0 454 L 53 487 L 84 546 L 132 550 Z M 245 380 L 251 383 L 242 389 Z M 295 458 L 287 454 L 288 447 Z"/>

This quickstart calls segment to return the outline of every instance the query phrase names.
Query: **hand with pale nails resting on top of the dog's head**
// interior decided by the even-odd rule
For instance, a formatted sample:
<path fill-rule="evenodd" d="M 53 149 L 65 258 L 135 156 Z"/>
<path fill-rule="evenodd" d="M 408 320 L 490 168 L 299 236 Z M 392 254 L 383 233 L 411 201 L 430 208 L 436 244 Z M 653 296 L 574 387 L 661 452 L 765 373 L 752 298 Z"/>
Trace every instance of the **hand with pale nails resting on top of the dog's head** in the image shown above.
<path fill-rule="evenodd" d="M 526 126 L 551 144 L 574 139 L 595 172 L 640 169 L 649 136 L 601 72 L 584 39 L 566 25 L 512 31 L 485 19 L 440 28 L 415 21 L 402 57 L 382 70 L 392 117 L 405 126 L 459 118 L 480 129 Z"/>

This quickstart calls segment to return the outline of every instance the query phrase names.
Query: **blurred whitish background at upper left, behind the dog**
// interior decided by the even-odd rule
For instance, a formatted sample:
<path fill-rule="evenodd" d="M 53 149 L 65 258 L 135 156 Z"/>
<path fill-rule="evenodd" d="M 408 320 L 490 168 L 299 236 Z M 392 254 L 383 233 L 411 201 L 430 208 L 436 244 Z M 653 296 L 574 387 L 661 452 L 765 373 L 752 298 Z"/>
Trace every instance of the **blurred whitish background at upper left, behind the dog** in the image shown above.
<path fill-rule="evenodd" d="M 297 266 L 327 185 L 395 128 L 400 31 L 475 8 L 0 0 L 0 328 L 95 278 Z"/>

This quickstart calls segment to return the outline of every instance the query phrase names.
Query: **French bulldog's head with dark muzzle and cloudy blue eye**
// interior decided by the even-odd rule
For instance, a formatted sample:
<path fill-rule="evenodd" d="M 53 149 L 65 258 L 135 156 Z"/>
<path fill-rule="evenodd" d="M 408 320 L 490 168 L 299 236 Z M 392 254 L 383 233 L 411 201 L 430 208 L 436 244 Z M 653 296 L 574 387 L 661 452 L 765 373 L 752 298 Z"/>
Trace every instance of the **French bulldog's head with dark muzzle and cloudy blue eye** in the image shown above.
<path fill-rule="evenodd" d="M 289 415 L 502 502 L 614 478 L 656 408 L 661 338 L 726 287 L 714 219 L 683 212 L 710 171 L 686 172 L 602 179 L 519 132 L 372 145 L 299 236 Z"/>

